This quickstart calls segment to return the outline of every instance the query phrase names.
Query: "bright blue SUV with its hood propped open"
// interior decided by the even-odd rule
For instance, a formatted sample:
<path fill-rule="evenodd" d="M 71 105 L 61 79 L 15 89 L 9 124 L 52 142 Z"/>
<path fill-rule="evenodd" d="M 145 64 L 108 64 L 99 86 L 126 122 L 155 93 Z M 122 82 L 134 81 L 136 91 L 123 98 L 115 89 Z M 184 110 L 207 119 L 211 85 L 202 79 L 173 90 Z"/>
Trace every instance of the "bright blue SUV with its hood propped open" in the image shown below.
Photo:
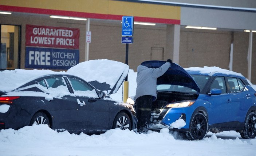
<path fill-rule="evenodd" d="M 142 65 L 158 68 L 164 63 Z M 202 139 L 209 131 L 234 130 L 244 139 L 256 136 L 256 91 L 239 73 L 218 67 L 185 70 L 172 63 L 157 79 L 157 91 L 150 129 L 167 127 L 184 132 L 189 140 Z"/>

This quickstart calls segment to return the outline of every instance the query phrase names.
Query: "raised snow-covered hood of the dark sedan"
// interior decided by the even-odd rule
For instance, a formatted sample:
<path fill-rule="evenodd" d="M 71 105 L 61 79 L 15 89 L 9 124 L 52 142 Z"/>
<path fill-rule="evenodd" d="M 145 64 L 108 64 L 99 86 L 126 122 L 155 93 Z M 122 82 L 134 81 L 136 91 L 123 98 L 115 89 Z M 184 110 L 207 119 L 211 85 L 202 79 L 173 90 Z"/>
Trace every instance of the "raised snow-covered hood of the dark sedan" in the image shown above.
<path fill-rule="evenodd" d="M 68 74 L 81 77 L 106 94 L 116 93 L 128 72 L 127 64 L 107 59 L 85 61 L 67 71 Z"/>

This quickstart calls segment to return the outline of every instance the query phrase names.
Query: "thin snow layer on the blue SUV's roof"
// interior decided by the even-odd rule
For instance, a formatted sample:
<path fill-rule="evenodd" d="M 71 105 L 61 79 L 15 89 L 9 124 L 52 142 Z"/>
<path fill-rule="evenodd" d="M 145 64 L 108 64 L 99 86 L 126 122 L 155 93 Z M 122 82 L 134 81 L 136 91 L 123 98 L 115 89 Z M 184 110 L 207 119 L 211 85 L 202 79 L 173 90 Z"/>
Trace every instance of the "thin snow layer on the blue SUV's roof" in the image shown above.
<path fill-rule="evenodd" d="M 207 74 L 209 76 L 213 76 L 215 73 L 243 76 L 241 73 L 236 73 L 236 72 L 229 71 L 227 69 L 222 69 L 222 68 L 215 67 L 215 66 L 214 67 L 206 67 L 206 66 L 204 66 L 204 67 L 190 67 L 190 68 L 185 68 L 185 70 L 186 71 L 198 71 L 199 73 Z"/>

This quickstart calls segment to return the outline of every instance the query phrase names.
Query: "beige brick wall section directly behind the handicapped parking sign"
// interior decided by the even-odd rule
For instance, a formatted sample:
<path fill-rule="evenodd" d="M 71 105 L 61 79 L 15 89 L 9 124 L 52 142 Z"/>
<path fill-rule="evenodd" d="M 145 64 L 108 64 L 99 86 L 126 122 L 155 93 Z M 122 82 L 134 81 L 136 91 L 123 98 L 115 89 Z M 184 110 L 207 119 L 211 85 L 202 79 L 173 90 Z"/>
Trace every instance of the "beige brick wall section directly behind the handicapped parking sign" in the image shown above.
<path fill-rule="evenodd" d="M 89 60 L 110 59 L 125 63 L 126 44 L 121 43 L 122 24 L 91 21 L 92 33 Z M 134 25 L 133 44 L 129 44 L 128 64 L 136 71 L 142 61 L 150 60 L 151 47 L 163 47 L 166 43 L 165 26 Z"/>

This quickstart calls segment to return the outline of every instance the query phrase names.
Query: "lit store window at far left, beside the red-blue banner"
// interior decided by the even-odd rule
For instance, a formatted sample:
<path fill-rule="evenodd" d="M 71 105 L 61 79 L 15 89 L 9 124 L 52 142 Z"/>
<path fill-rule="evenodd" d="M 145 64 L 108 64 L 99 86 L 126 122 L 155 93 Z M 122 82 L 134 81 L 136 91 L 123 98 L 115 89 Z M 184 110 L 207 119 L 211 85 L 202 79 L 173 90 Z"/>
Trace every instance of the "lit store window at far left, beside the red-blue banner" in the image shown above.
<path fill-rule="evenodd" d="M 0 70 L 20 68 L 20 26 L 3 24 L 0 26 Z"/>

